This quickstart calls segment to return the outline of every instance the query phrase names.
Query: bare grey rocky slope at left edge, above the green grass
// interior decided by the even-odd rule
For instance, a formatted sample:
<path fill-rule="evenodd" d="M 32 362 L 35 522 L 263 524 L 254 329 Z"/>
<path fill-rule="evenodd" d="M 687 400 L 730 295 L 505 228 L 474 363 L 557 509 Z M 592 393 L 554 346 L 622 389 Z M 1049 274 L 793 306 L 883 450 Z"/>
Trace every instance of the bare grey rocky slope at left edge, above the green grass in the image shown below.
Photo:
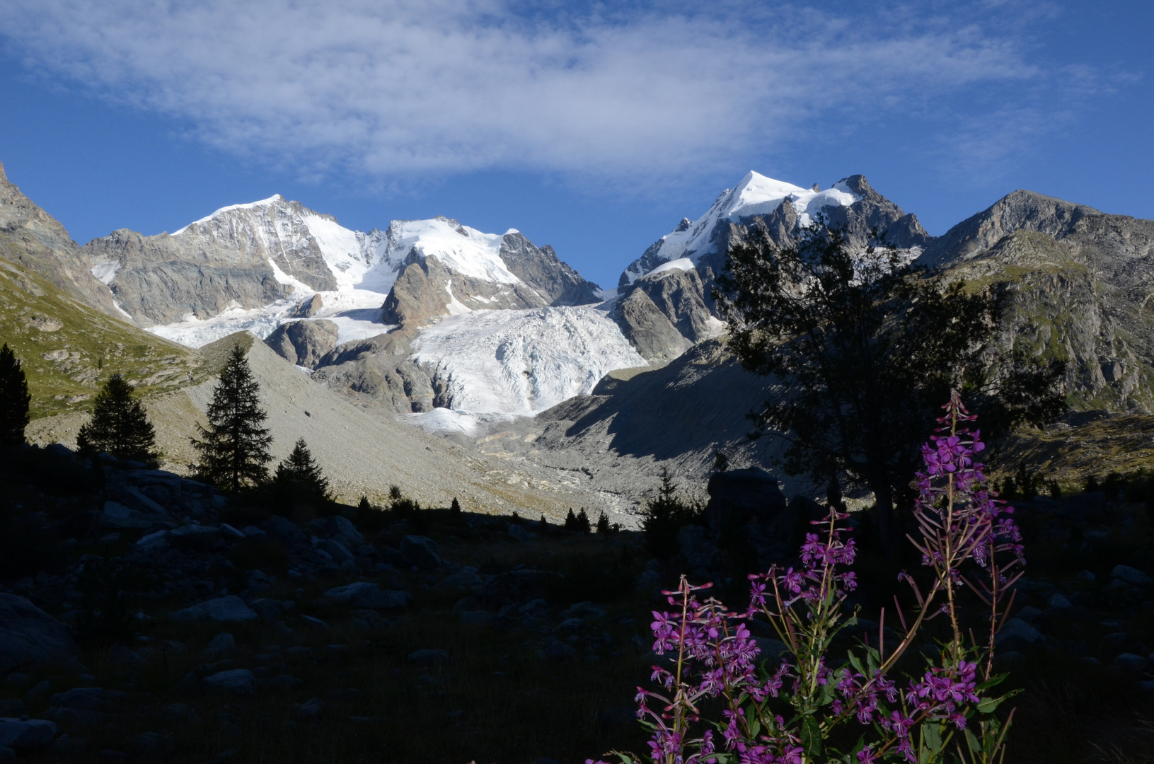
<path fill-rule="evenodd" d="M 123 314 L 91 272 L 87 254 L 60 223 L 8 181 L 0 164 L 0 257 L 47 279 L 88 306 L 117 317 Z"/>

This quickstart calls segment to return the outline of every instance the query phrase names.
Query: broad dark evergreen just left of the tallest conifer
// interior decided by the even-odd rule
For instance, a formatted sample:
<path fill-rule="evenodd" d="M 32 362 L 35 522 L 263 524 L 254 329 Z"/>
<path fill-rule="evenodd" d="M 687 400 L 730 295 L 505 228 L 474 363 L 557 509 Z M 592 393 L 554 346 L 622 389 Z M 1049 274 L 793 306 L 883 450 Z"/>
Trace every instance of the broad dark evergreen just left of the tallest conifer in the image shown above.
<path fill-rule="evenodd" d="M 76 447 L 85 455 L 107 451 L 118 459 L 156 462 L 156 430 L 125 377 L 113 374 L 96 394 L 92 418 L 81 425 Z"/>

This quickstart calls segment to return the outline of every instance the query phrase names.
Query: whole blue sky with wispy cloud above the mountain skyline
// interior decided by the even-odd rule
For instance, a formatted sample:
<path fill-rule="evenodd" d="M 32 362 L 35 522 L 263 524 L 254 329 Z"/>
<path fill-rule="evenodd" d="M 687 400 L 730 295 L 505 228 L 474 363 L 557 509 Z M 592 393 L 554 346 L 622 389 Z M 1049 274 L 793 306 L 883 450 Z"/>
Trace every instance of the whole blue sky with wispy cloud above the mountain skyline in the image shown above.
<path fill-rule="evenodd" d="M 1152 32 L 1148 2 L 7 0 L 0 162 L 81 244 L 279 193 L 516 227 L 608 286 L 751 168 L 864 173 L 934 234 L 1014 188 L 1154 217 Z"/>

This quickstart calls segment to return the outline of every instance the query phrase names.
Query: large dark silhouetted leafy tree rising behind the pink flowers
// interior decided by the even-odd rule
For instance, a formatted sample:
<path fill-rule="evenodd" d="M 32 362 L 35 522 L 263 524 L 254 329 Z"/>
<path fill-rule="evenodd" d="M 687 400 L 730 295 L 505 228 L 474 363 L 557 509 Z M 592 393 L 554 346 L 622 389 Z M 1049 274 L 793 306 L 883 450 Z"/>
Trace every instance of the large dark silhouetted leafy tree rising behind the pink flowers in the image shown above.
<path fill-rule="evenodd" d="M 869 487 L 887 550 L 896 497 L 951 388 L 988 436 L 1064 407 L 1062 364 L 998 357 L 1004 293 L 950 282 L 884 244 L 860 252 L 840 229 L 814 224 L 788 246 L 755 229 L 730 249 L 714 298 L 741 364 L 785 382 L 755 414 L 755 436 L 785 440 L 786 472 L 830 485 L 831 496 L 840 475 Z"/>

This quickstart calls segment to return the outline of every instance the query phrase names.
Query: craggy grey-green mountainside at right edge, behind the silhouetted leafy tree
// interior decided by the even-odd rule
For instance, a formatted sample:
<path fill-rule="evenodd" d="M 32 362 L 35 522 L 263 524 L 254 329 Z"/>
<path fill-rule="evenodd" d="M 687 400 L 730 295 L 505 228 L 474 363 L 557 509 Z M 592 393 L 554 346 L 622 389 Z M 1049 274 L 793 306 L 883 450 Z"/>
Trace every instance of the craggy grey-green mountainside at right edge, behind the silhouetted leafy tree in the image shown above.
<path fill-rule="evenodd" d="M 1066 360 L 1065 391 L 1074 407 L 1149 413 L 1154 410 L 1154 314 L 1148 306 L 1154 292 L 1154 222 L 1091 214 L 1089 208 L 1051 204 L 1057 200 L 1024 192 L 1011 196 L 1041 200 L 1054 215 L 1017 219 L 991 215 L 967 226 L 968 233 L 957 237 L 959 244 L 952 248 L 928 256 L 952 252 L 951 275 L 1006 285 L 1003 345 L 1043 360 Z M 1012 207 L 1003 205 L 1003 211 Z M 1014 223 L 1024 227 L 1003 233 L 975 253 Z M 1046 232 L 1054 230 L 1059 238 Z"/>

